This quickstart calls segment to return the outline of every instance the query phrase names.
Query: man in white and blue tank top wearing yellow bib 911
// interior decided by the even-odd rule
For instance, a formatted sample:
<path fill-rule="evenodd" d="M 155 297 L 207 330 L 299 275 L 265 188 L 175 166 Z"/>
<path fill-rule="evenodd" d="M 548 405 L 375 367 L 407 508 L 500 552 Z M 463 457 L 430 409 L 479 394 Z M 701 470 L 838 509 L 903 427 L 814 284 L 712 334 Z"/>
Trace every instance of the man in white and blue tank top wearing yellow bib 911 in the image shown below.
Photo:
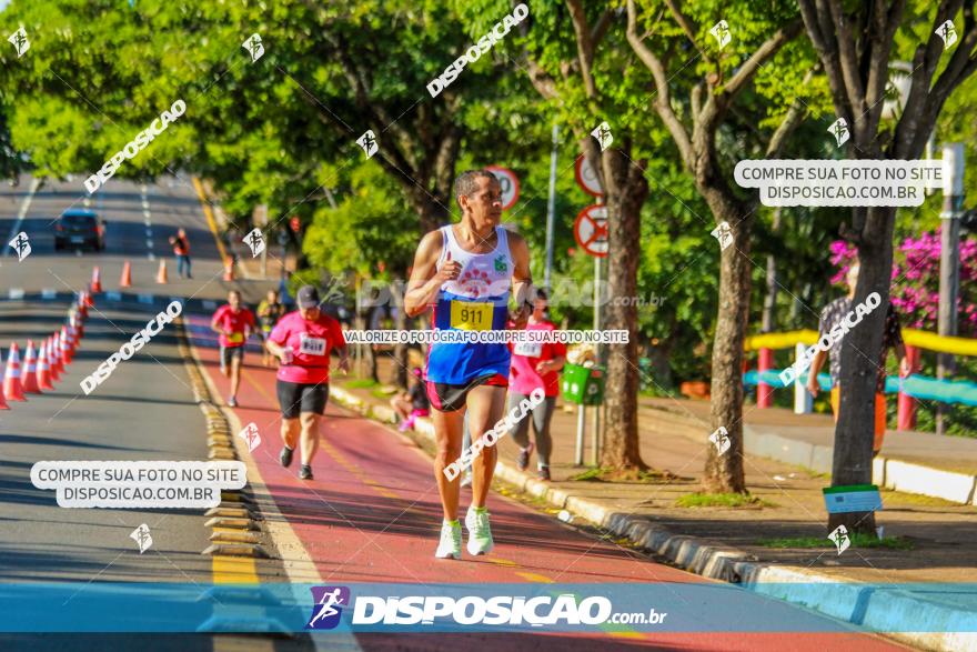
<path fill-rule="evenodd" d="M 461 222 L 431 231 L 421 240 L 404 298 L 409 315 L 434 307 L 432 321 L 442 330 L 504 330 L 507 320 L 514 328 L 525 327 L 532 311 L 530 249 L 521 235 L 498 227 L 501 194 L 498 181 L 486 170 L 459 175 L 455 199 Z M 513 313 L 508 312 L 510 294 L 516 298 Z M 466 411 L 472 441 L 502 418 L 508 362 L 504 343 L 436 343 L 429 351 L 427 395 L 437 439 L 434 478 L 444 511 L 435 556 L 461 558 L 459 479 L 449 481 L 444 469 L 461 457 Z M 465 516 L 467 549 L 473 555 L 493 546 L 485 500 L 495 460 L 495 448 L 485 447 L 473 462 L 472 505 Z"/>

